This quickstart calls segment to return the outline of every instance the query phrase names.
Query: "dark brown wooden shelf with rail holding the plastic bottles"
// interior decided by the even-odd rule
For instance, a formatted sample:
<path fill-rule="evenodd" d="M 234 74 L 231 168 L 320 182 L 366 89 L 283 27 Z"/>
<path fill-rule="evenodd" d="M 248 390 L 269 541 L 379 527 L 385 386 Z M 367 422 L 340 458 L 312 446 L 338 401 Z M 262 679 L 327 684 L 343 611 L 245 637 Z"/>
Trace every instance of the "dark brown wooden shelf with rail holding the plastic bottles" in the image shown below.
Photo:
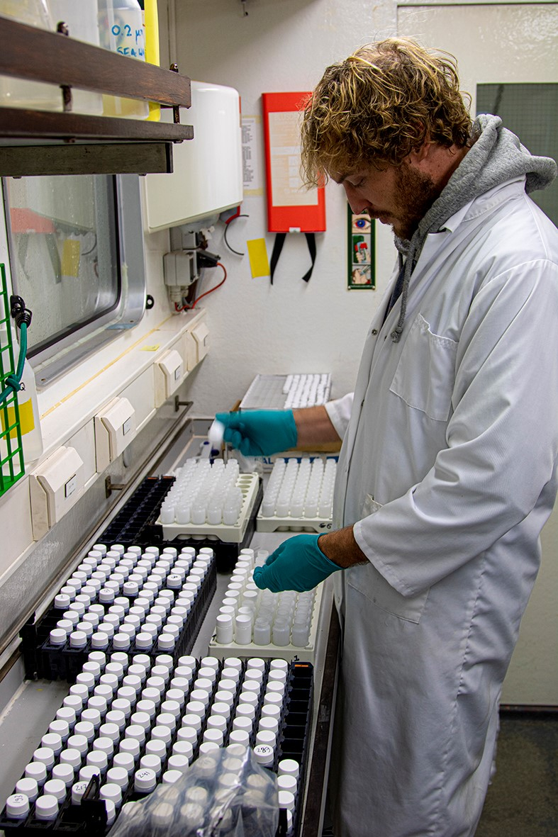
<path fill-rule="evenodd" d="M 188 77 L 11 18 L 0 18 L 0 42 L 0 74 L 59 85 L 65 107 L 0 107 L 0 176 L 172 172 L 173 142 L 194 136 L 179 124 Z M 173 107 L 174 124 L 73 113 L 73 88 Z"/>

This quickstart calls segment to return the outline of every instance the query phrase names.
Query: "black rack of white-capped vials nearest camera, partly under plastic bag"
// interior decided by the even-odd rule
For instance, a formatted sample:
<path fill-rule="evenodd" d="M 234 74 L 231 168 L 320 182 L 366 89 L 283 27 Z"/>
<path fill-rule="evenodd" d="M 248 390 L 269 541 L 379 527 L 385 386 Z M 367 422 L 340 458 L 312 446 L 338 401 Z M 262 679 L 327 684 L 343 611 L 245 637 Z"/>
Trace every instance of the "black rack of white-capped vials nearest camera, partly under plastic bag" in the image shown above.
<path fill-rule="evenodd" d="M 103 834 L 122 804 L 178 781 L 194 759 L 220 747 L 234 758 L 244 752 L 239 747 L 253 747 L 258 762 L 277 773 L 297 834 L 311 665 L 260 657 L 222 664 L 210 656 L 183 656 L 174 665 L 168 655 L 155 661 L 96 651 L 80 674 L 92 678 L 90 696 L 57 711 L 0 814 L 4 832 Z M 93 708 L 111 684 L 106 710 Z M 130 699 L 119 697 L 123 688 Z"/>

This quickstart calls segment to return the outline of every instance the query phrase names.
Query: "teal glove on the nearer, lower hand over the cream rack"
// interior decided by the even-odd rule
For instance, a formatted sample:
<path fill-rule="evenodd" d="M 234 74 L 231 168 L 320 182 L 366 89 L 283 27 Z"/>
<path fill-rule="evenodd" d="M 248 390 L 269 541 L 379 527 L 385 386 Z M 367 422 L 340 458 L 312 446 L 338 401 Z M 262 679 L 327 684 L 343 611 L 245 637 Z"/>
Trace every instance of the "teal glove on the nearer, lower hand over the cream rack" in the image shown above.
<path fill-rule="evenodd" d="M 324 578 L 343 569 L 325 557 L 318 547 L 319 535 L 295 535 L 271 552 L 264 567 L 256 567 L 254 581 L 271 593 L 297 590 L 303 593 L 317 587 Z"/>

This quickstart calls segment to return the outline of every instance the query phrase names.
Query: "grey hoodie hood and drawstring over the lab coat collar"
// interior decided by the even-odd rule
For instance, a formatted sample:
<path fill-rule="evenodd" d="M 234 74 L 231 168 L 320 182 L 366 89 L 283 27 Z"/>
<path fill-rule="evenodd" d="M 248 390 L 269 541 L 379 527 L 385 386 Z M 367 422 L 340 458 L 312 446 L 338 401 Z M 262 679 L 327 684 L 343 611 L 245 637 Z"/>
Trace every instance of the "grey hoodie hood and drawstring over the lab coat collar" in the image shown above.
<path fill-rule="evenodd" d="M 406 258 L 399 321 L 391 332 L 395 343 L 399 342 L 403 332 L 409 282 L 426 235 L 439 232 L 447 218 L 500 183 L 514 177 L 525 177 L 525 192 L 530 193 L 535 189 L 544 189 L 556 177 L 555 161 L 550 157 L 530 154 L 518 137 L 502 126 L 499 116 L 478 116 L 473 124 L 471 142 L 468 153 L 422 218 L 411 241 L 395 236 L 400 267 Z"/>

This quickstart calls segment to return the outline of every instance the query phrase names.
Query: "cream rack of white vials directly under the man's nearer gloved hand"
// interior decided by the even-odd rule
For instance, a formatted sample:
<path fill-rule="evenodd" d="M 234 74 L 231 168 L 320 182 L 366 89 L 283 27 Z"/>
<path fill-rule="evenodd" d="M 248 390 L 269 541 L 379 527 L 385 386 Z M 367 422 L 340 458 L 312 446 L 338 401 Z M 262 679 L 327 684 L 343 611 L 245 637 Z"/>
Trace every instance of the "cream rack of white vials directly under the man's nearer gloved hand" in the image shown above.
<path fill-rule="evenodd" d="M 261 654 L 314 662 L 323 585 L 309 593 L 271 593 L 252 580 L 268 553 L 244 549 L 235 565 L 216 619 L 209 652 L 218 657 Z"/>

